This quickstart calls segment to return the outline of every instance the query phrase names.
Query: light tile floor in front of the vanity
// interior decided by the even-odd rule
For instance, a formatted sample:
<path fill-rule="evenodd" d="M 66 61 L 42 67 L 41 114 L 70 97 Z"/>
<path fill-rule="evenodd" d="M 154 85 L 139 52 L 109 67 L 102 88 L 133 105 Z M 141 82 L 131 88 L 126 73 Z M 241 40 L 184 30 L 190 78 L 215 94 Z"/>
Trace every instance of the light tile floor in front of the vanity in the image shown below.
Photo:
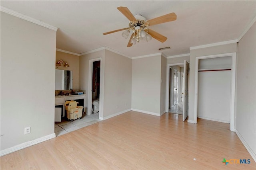
<path fill-rule="evenodd" d="M 63 119 L 61 122 L 55 122 L 54 132 L 56 136 L 64 135 L 71 131 L 75 131 L 82 127 L 86 127 L 101 121 L 99 119 L 99 113 L 92 115 L 83 115 L 82 119 L 76 119 L 73 122 Z"/>

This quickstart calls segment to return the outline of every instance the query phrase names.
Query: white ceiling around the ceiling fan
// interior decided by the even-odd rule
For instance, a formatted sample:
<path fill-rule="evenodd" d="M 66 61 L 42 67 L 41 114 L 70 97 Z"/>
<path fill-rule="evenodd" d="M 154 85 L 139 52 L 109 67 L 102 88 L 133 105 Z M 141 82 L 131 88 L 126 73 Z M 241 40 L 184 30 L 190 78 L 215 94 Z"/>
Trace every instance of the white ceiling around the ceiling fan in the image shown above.
<path fill-rule="evenodd" d="M 84 53 L 108 47 L 129 57 L 160 53 L 166 56 L 190 53 L 189 47 L 238 39 L 254 19 L 256 1 L 3 1 L 1 6 L 20 12 L 55 27 L 57 49 Z M 126 47 L 122 31 L 128 19 L 116 9 L 126 6 L 132 14 L 147 20 L 175 12 L 177 20 L 153 25 L 150 29 L 166 36 Z"/>

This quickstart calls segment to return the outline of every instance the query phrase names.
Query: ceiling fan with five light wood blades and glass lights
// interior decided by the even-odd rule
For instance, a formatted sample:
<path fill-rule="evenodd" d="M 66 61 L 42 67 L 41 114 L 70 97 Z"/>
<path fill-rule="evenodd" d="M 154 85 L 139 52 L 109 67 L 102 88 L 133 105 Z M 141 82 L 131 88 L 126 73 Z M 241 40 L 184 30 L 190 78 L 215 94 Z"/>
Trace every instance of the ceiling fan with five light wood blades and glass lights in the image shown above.
<path fill-rule="evenodd" d="M 146 18 L 144 18 L 140 14 L 133 16 L 127 7 L 120 6 L 117 9 L 120 12 L 122 12 L 122 14 L 124 14 L 124 16 L 128 18 L 128 20 L 130 20 L 129 27 L 117 29 L 114 31 L 109 31 L 109 32 L 103 33 L 103 35 L 125 30 L 122 33 L 122 36 L 124 38 L 128 38 L 128 36 L 130 35 L 130 32 L 132 32 L 132 35 L 130 37 L 127 47 L 131 47 L 133 44 L 136 44 L 136 42 L 139 42 L 140 39 L 146 39 L 146 41 L 150 41 L 152 37 L 163 43 L 164 41 L 166 41 L 167 37 L 164 37 L 164 35 L 161 35 L 160 33 L 157 33 L 156 31 L 149 29 L 148 26 L 175 21 L 177 18 L 176 14 L 172 12 L 164 16 L 153 18 L 151 20 L 146 20 Z"/>

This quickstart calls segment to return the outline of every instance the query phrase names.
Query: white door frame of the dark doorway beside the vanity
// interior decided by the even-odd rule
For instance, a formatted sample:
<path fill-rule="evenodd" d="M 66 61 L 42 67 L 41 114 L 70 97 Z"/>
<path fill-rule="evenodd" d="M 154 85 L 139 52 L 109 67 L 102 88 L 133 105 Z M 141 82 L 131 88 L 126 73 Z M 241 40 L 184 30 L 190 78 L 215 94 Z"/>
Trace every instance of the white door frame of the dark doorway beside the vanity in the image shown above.
<path fill-rule="evenodd" d="M 93 73 L 93 62 L 94 61 L 100 61 L 100 103 L 99 103 L 99 119 L 103 119 L 103 104 L 104 104 L 104 64 L 102 62 L 102 58 L 96 58 L 96 59 L 90 59 L 89 60 L 89 70 L 88 70 L 88 92 L 86 95 L 88 95 L 88 110 L 87 114 L 92 114 L 92 73 Z"/>

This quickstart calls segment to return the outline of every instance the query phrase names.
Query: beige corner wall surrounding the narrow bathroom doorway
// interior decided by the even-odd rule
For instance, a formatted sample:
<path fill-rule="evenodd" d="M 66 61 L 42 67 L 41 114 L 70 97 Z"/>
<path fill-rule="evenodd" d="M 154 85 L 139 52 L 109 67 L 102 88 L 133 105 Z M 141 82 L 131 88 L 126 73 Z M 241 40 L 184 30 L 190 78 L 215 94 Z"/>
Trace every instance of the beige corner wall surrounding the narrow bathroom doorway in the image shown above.
<path fill-rule="evenodd" d="M 116 113 L 131 109 L 132 59 L 108 50 L 80 56 L 79 86 L 83 86 L 82 90 L 88 91 L 89 60 L 97 58 L 102 58 L 101 69 L 104 72 L 104 105 L 103 115 L 100 115 L 100 117 L 105 119 Z M 86 100 L 86 107 L 88 108 L 88 101 L 92 99 L 87 95 Z M 117 106 L 118 108 L 116 108 Z"/>

